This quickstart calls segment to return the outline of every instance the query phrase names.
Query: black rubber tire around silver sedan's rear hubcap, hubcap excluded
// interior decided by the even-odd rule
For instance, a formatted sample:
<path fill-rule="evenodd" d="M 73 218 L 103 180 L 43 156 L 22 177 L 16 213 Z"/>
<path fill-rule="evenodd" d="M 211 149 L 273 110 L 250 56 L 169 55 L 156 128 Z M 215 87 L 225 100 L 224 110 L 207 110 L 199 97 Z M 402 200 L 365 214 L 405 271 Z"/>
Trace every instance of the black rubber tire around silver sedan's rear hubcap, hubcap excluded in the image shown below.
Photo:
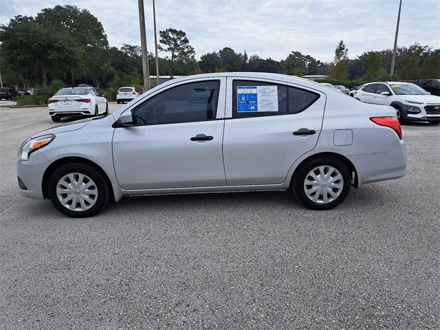
<path fill-rule="evenodd" d="M 332 166 L 339 171 L 340 175 L 342 175 L 343 184 L 342 191 L 340 195 L 333 199 L 333 201 L 329 201 L 328 203 L 319 203 L 316 201 L 312 201 L 309 197 L 307 197 L 305 192 L 305 179 L 307 179 L 307 175 L 314 170 L 314 168 L 318 166 Z M 347 166 L 337 158 L 334 157 L 316 157 L 314 159 L 309 160 L 307 163 L 301 165 L 298 168 L 292 189 L 294 190 L 296 198 L 303 203 L 303 205 L 307 206 L 307 208 L 311 208 L 312 210 L 330 210 L 331 208 L 335 208 L 338 206 L 349 194 L 351 187 L 351 171 Z M 318 192 L 316 192 L 318 193 Z"/>

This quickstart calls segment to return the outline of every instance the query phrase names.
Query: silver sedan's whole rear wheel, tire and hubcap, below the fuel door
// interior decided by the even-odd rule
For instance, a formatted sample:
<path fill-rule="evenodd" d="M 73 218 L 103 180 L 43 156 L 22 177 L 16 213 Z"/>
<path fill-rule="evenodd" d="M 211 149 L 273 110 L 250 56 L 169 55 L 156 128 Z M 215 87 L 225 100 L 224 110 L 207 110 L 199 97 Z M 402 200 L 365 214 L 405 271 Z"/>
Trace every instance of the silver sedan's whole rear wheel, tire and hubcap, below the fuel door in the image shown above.
<path fill-rule="evenodd" d="M 351 171 L 337 158 L 318 157 L 303 164 L 296 173 L 296 198 L 312 210 L 329 210 L 349 194 Z"/>

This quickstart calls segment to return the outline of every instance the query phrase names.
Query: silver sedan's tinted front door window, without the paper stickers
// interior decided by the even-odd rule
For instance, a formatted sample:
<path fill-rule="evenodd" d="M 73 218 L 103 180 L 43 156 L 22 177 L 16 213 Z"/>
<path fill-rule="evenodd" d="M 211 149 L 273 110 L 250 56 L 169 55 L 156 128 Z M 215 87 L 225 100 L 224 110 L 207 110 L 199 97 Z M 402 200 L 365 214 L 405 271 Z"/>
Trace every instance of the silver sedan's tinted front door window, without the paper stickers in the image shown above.
<path fill-rule="evenodd" d="M 219 88 L 219 80 L 207 80 L 167 89 L 136 107 L 133 119 L 136 125 L 214 120 Z"/>

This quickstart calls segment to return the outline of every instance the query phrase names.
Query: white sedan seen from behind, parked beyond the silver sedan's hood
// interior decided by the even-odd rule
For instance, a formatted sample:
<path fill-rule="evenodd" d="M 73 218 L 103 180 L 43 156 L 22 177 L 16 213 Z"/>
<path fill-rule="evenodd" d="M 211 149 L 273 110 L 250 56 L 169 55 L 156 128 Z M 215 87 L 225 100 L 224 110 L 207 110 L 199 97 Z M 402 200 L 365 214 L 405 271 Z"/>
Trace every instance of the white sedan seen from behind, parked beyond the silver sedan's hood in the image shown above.
<path fill-rule="evenodd" d="M 63 117 L 100 115 L 109 113 L 109 103 L 93 87 L 66 87 L 47 100 L 54 122 Z"/>

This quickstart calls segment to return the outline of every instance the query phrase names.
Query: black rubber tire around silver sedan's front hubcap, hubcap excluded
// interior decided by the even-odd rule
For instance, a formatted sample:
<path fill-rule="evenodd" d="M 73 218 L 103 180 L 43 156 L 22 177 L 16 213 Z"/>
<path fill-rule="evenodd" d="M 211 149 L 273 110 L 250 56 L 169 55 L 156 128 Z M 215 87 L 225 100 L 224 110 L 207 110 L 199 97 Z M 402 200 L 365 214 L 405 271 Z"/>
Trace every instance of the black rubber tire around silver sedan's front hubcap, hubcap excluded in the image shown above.
<path fill-rule="evenodd" d="M 84 211 L 69 210 L 67 207 L 63 206 L 61 201 L 59 201 L 58 196 L 56 195 L 56 186 L 58 185 L 58 181 L 69 173 L 81 173 L 87 175 L 96 184 L 98 197 L 91 208 Z M 107 205 L 110 199 L 110 188 L 104 176 L 96 170 L 96 168 L 83 163 L 66 164 L 55 170 L 49 179 L 49 184 L 47 184 L 47 192 L 50 200 L 58 211 L 72 218 L 93 217 Z"/>

